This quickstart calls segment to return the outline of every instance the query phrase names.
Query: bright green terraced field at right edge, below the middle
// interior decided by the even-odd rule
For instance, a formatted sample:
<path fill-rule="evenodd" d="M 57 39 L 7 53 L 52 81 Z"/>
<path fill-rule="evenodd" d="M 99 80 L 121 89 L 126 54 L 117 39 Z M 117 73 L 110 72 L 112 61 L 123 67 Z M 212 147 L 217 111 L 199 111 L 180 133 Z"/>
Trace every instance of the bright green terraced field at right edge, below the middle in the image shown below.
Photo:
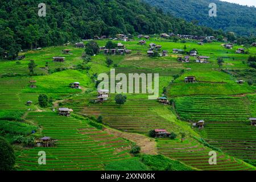
<path fill-rule="evenodd" d="M 241 159 L 256 159 L 256 129 L 245 97 L 179 97 L 175 104 L 181 119 L 204 119 L 200 133 L 210 144 Z"/>

